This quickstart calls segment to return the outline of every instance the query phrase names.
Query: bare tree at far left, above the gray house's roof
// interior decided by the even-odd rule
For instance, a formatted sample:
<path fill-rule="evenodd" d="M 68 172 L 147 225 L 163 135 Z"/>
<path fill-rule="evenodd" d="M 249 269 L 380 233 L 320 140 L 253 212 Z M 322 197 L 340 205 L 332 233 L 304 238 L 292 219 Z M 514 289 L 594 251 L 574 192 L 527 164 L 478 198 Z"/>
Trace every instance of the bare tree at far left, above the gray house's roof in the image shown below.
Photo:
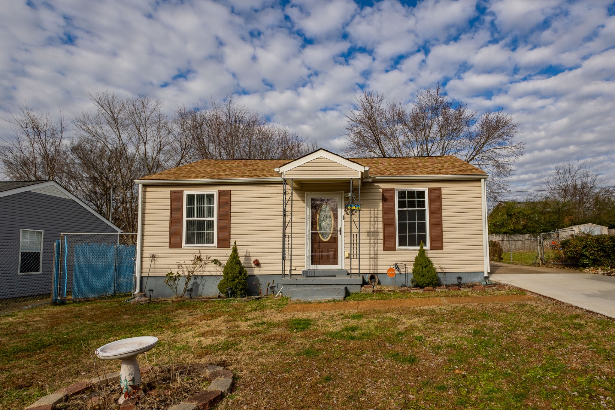
<path fill-rule="evenodd" d="M 69 156 L 68 124 L 62 113 L 53 119 L 49 112 L 35 112 L 27 105 L 14 114 L 12 133 L 0 145 L 0 167 L 10 179 L 35 181 L 56 179 L 62 183 Z"/>

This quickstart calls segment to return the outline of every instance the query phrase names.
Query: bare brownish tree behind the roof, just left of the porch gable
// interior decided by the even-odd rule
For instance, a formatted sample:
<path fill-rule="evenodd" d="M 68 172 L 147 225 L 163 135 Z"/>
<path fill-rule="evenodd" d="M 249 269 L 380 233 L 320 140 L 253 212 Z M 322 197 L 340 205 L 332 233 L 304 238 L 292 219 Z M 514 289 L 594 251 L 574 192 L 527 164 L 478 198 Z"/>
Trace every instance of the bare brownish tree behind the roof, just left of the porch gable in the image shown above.
<path fill-rule="evenodd" d="M 238 104 L 233 94 L 201 109 L 179 107 L 176 118 L 178 129 L 188 133 L 181 140 L 191 141 L 196 159 L 296 158 L 316 148 L 288 127 Z"/>

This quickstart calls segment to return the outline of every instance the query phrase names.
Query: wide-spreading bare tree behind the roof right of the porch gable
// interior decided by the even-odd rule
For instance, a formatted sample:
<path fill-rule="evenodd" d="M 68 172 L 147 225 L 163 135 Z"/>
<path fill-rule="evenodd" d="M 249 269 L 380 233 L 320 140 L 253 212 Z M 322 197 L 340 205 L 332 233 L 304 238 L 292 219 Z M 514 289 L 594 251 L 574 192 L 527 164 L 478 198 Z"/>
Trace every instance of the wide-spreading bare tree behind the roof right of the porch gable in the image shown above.
<path fill-rule="evenodd" d="M 490 173 L 491 197 L 506 189 L 523 143 L 515 142 L 518 123 L 502 111 L 477 111 L 451 101 L 440 86 L 416 93 L 408 106 L 383 94 L 363 92 L 346 114 L 352 156 L 405 157 L 454 155 Z"/>

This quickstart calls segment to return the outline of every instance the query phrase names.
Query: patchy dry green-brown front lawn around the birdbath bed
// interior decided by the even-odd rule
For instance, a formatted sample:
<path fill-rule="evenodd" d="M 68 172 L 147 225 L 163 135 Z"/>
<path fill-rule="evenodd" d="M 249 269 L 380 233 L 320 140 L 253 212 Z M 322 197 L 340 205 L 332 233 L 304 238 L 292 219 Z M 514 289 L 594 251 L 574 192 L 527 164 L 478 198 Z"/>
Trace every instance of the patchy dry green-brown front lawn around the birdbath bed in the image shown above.
<path fill-rule="evenodd" d="M 423 295 L 377 296 L 387 297 Z M 141 335 L 161 339 L 151 361 L 170 351 L 176 363 L 231 369 L 236 392 L 220 409 L 603 409 L 615 403 L 615 323 L 554 302 L 280 312 L 287 302 L 77 302 L 5 315 L 0 408 L 22 409 L 95 376 L 95 366 L 117 371 L 117 362 L 94 363 L 92 350 Z"/>

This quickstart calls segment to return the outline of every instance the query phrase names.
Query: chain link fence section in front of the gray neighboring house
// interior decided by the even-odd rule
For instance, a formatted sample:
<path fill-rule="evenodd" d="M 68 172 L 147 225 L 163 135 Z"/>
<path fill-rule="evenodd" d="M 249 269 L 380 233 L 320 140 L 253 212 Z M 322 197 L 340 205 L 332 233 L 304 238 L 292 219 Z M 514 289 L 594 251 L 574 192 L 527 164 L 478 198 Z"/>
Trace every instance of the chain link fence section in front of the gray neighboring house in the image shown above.
<path fill-rule="evenodd" d="M 0 313 L 52 301 L 55 240 L 0 242 Z"/>

